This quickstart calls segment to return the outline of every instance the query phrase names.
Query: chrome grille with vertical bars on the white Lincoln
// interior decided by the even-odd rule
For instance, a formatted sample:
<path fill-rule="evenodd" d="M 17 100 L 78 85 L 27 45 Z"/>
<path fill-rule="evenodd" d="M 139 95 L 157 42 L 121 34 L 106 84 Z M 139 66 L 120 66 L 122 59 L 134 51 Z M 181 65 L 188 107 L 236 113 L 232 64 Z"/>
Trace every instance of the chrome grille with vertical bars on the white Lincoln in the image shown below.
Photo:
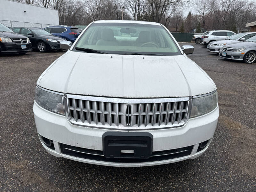
<path fill-rule="evenodd" d="M 185 124 L 188 117 L 189 98 L 117 99 L 67 95 L 65 97 L 67 117 L 73 124 L 99 128 L 162 128 Z M 85 98 L 83 98 L 85 97 Z M 124 101 L 125 102 L 122 102 Z M 134 102 L 135 101 L 135 102 Z M 167 102 L 166 102 L 167 101 Z"/>

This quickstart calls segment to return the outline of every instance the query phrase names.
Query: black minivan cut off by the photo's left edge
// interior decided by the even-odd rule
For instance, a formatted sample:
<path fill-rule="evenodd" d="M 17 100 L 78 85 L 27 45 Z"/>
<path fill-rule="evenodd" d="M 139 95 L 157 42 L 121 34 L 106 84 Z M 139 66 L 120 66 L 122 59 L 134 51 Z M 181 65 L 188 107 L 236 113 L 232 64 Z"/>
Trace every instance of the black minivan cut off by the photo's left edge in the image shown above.
<path fill-rule="evenodd" d="M 11 29 L 0 23 L 0 53 L 25 54 L 32 51 L 29 38 L 16 34 Z"/>

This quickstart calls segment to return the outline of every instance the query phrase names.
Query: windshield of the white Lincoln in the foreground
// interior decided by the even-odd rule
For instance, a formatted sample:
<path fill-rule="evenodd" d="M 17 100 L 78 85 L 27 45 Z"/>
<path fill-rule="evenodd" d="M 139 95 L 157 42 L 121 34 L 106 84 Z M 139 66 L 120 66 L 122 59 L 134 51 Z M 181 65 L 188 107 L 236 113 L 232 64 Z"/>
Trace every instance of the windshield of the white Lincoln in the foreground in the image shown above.
<path fill-rule="evenodd" d="M 108 54 L 180 55 L 172 37 L 161 25 L 93 23 L 75 45 Z"/>

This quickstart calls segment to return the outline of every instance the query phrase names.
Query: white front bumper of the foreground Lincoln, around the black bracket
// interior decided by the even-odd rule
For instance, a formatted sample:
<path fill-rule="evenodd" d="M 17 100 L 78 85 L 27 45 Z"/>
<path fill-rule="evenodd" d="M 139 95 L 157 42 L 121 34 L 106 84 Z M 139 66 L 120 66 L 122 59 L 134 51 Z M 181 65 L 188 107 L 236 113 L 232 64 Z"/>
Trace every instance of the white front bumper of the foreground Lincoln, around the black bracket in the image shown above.
<path fill-rule="evenodd" d="M 186 159 L 194 159 L 204 153 L 208 148 L 219 117 L 219 108 L 215 108 L 212 112 L 191 118 L 188 122 L 177 128 L 162 129 L 162 130 L 141 130 L 133 132 L 150 132 L 153 135 L 153 152 L 178 149 L 191 146 L 191 152 L 185 156 L 163 159 L 157 161 L 123 163 L 113 162 L 102 159 L 82 158 L 79 156 L 71 156 L 62 153 L 61 146 L 69 145 L 78 148 L 89 150 L 97 150 L 102 152 L 102 135 L 105 132 L 113 131 L 107 129 L 97 129 L 90 127 L 81 127 L 72 125 L 66 119 L 66 116 L 58 115 L 38 106 L 34 102 L 34 117 L 36 129 L 42 145 L 50 154 L 57 157 L 64 157 L 75 161 L 80 161 L 90 164 L 99 164 L 118 167 L 137 167 L 150 166 L 158 164 L 174 163 Z M 116 130 L 118 131 L 118 130 Z M 125 132 L 125 131 L 124 131 Z M 55 150 L 48 148 L 42 141 L 41 136 L 53 140 Z M 208 140 L 207 146 L 198 151 L 199 143 Z"/>

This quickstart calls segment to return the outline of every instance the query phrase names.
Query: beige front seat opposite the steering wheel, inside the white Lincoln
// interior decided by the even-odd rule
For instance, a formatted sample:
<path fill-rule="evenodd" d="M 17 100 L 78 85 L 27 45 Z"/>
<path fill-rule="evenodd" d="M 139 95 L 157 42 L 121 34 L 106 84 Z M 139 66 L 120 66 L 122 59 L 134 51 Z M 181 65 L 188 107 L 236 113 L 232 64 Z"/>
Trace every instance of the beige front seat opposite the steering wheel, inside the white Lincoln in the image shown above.
<path fill-rule="evenodd" d="M 118 45 L 112 29 L 103 29 L 101 39 L 95 45 Z"/>

